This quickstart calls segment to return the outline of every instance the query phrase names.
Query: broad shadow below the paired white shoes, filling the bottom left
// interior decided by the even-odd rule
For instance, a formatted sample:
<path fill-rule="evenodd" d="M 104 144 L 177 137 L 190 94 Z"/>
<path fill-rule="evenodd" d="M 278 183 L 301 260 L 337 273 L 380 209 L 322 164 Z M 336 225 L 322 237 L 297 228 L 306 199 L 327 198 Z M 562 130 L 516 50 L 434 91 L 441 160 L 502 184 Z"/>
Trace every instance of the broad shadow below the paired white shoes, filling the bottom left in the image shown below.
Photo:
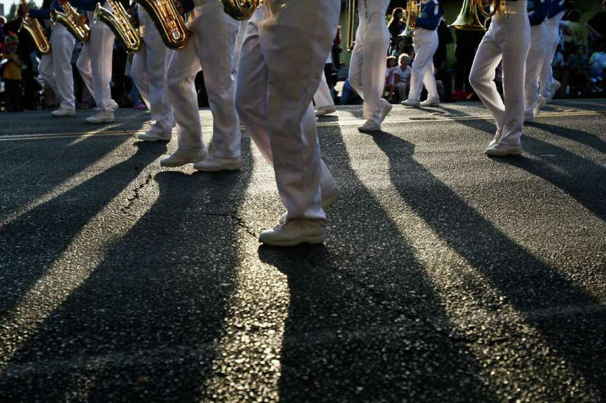
<path fill-rule="evenodd" d="M 156 174 L 153 206 L 18 349 L 0 400 L 199 401 L 239 261 L 231 215 L 251 171 Z"/>

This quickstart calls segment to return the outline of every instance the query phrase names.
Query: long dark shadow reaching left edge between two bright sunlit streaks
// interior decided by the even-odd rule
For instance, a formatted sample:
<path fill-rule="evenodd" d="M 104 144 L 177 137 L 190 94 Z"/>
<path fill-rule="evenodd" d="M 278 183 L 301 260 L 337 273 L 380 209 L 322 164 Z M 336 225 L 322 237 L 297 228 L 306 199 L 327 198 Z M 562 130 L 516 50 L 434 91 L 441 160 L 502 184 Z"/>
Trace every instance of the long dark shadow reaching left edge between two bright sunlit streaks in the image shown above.
<path fill-rule="evenodd" d="M 0 319 L 12 313 L 24 293 L 52 267 L 84 225 L 164 151 L 164 143 L 142 144 L 127 160 L 0 228 L 0 248 L 4 251 L 0 258 Z"/>

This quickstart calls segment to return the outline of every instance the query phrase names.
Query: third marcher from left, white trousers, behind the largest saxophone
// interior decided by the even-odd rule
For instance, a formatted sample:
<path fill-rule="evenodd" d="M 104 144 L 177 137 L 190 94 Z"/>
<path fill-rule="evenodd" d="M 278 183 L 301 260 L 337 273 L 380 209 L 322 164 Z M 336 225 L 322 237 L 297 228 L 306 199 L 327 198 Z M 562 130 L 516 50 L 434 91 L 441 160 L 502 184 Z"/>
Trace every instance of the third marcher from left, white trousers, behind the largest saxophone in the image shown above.
<path fill-rule="evenodd" d="M 140 4 L 137 4 L 137 14 L 144 46 L 133 56 L 132 76 L 154 121 L 138 139 L 170 140 L 174 122 L 166 76 L 173 51 L 164 46 L 158 29 Z"/>

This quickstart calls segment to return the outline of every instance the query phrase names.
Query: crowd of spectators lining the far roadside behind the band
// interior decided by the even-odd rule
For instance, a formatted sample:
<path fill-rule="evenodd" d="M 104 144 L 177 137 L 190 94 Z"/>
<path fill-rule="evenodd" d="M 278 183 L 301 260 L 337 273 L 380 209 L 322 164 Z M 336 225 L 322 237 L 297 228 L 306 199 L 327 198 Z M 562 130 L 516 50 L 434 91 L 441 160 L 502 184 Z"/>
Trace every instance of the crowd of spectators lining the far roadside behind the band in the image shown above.
<path fill-rule="evenodd" d="M 129 8 L 129 4 L 125 4 Z M 132 6 L 132 5 L 131 5 Z M 579 23 L 581 13 L 570 4 L 561 24 L 561 41 L 553 58 L 554 77 L 561 82 L 556 98 L 601 96 L 606 89 L 604 79 L 606 69 L 606 0 L 602 1 L 602 11 L 592 16 L 585 25 Z M 132 7 L 130 7 L 132 10 Z M 19 32 L 23 11 L 16 8 L 12 19 L 0 17 L 0 46 L 2 61 L 3 103 L 0 110 L 21 111 L 53 108 L 56 98 L 50 88 L 45 88 L 38 74 L 39 54 L 32 38 L 26 31 Z M 396 103 L 406 99 L 410 87 L 410 65 L 415 59 L 410 36 L 405 36 L 406 22 L 404 10 L 394 8 L 388 18 L 388 30 L 391 35 L 390 47 L 386 56 L 385 98 Z M 447 27 L 444 19 L 438 27 L 438 50 L 433 57 L 434 73 L 441 102 L 473 99 L 469 84 L 469 71 L 479 42 L 481 31 L 453 31 Z M 447 45 L 454 42 L 454 61 L 447 59 Z M 72 69 L 75 83 L 76 105 L 81 109 L 92 108 L 94 101 L 76 68 L 76 61 L 82 49 L 76 42 L 72 56 Z M 335 38 L 331 57 L 326 68 L 327 81 L 337 102 L 342 105 L 361 103 L 361 99 L 345 80 L 341 96 L 336 90 L 338 72 L 341 64 L 341 35 Z M 124 107 L 145 109 L 137 88 L 130 78 L 130 62 L 119 41 L 115 42 L 112 62 L 112 98 Z M 498 68 L 496 81 L 499 84 L 501 72 Z M 207 106 L 202 72 L 196 78 L 199 92 L 199 104 Z M 340 99 L 339 99 L 340 98 Z"/>

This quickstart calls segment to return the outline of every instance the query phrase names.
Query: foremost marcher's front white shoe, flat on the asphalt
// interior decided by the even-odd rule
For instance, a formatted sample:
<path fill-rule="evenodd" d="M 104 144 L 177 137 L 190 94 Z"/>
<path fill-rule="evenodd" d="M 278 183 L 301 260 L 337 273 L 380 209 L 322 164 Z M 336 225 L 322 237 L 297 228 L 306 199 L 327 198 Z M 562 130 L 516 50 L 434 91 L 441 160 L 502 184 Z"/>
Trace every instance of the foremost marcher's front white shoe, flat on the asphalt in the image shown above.
<path fill-rule="evenodd" d="M 326 227 L 315 220 L 290 220 L 267 229 L 259 235 L 259 242 L 273 246 L 295 246 L 300 243 L 322 243 Z"/>

